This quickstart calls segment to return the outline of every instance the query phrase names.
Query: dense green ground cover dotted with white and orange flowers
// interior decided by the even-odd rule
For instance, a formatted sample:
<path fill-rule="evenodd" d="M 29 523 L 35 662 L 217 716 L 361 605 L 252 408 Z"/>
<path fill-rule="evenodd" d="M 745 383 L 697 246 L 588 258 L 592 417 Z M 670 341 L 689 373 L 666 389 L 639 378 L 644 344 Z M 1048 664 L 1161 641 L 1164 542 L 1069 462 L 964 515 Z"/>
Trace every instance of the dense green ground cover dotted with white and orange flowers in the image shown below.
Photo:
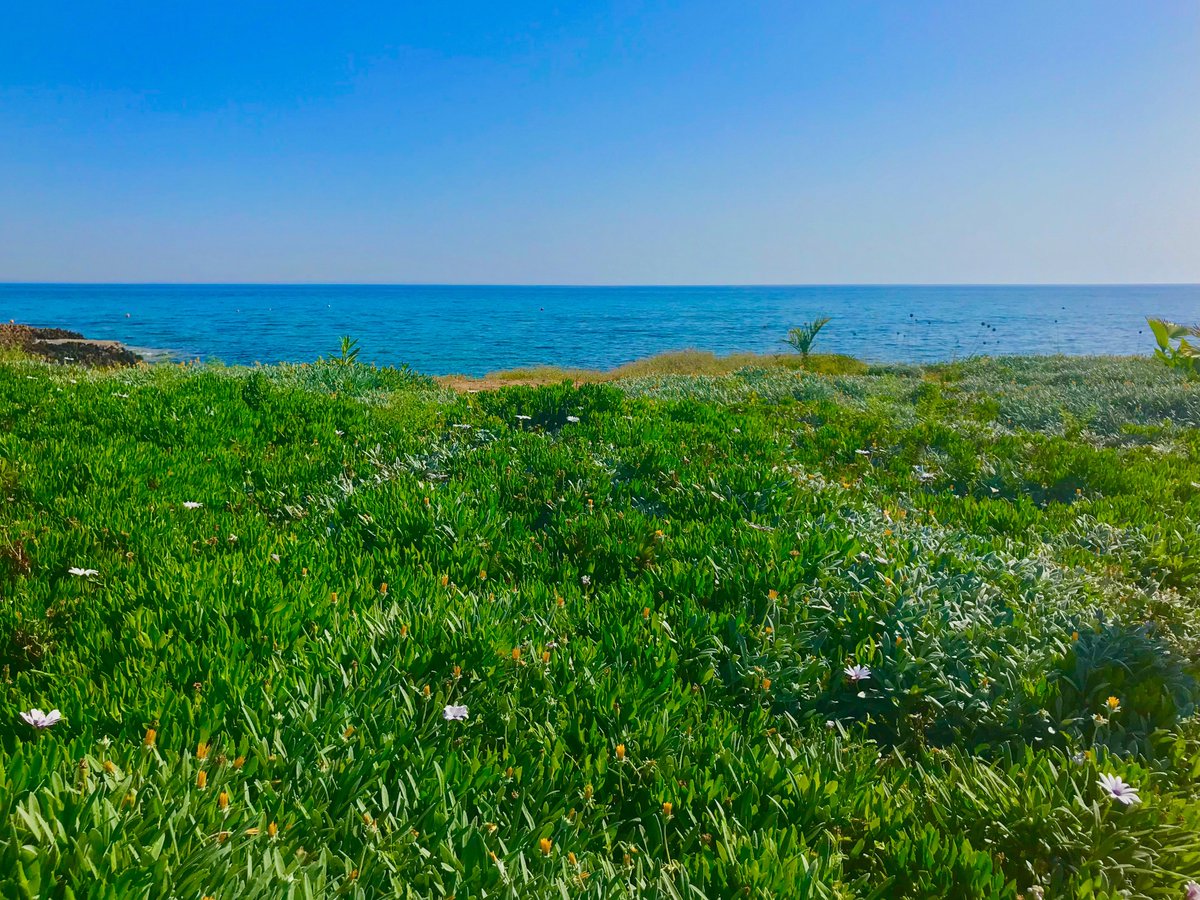
<path fill-rule="evenodd" d="M 1150 360 L 5 364 L 0 895 L 1182 898 L 1198 426 Z"/>

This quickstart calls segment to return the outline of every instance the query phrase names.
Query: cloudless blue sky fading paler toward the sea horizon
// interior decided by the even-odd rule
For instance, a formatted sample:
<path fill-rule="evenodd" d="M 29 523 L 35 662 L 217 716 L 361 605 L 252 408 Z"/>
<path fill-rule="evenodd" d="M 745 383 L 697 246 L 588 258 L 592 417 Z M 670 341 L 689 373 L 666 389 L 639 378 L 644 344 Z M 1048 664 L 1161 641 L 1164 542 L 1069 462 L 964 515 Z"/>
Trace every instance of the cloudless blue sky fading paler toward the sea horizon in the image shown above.
<path fill-rule="evenodd" d="M 0 281 L 1198 282 L 1200 4 L 6 4 Z"/>

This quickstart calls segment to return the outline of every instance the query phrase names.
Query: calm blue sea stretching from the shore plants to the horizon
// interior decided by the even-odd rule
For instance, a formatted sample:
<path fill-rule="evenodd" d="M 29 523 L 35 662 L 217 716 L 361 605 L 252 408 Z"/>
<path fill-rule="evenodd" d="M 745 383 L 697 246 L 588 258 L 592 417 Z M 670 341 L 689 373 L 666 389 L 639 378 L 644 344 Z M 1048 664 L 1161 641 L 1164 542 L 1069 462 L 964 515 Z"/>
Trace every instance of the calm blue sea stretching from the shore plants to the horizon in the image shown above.
<path fill-rule="evenodd" d="M 976 354 L 1147 354 L 1146 316 L 1200 319 L 1200 284 L 1031 287 L 422 287 L 0 284 L 0 319 L 226 362 L 360 359 L 430 374 L 536 364 L 608 368 L 696 347 L 778 352 L 833 322 L 821 350 L 875 361 Z"/>

